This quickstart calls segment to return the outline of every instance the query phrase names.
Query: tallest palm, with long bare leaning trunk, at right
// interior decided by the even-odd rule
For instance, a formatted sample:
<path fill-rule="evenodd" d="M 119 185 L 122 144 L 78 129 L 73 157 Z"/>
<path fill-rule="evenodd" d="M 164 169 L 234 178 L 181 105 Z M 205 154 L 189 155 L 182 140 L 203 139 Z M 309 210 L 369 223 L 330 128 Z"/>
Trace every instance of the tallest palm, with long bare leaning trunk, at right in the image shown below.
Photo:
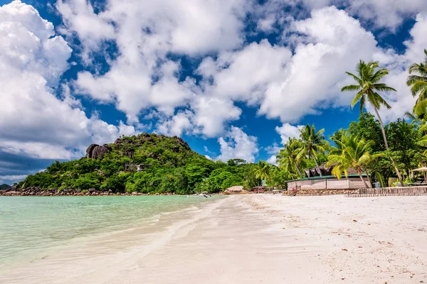
<path fill-rule="evenodd" d="M 360 112 L 363 113 L 365 104 L 369 102 L 372 108 L 375 111 L 376 117 L 381 124 L 381 131 L 384 138 L 384 144 L 386 146 L 387 151 L 389 151 L 389 143 L 387 142 L 386 130 L 384 129 L 384 124 L 381 120 L 381 116 L 379 116 L 378 110 L 381 106 L 386 107 L 387 109 L 391 109 L 390 105 L 378 94 L 378 92 L 397 92 L 396 89 L 387 86 L 384 83 L 380 83 L 379 81 L 386 75 L 389 74 L 389 70 L 386 68 L 381 68 L 376 70 L 379 67 L 378 62 L 369 62 L 365 63 L 360 60 L 357 63 L 357 76 L 346 72 L 347 75 L 351 76 L 357 84 L 350 84 L 348 86 L 342 87 L 341 91 L 357 91 L 356 96 L 352 101 L 352 108 L 355 104 L 360 102 Z M 394 166 L 394 170 L 396 170 L 397 177 L 399 178 L 399 182 L 401 186 L 404 186 L 404 182 L 402 180 L 399 169 L 396 167 L 396 163 L 394 163 L 393 158 L 390 157 L 391 164 Z"/>

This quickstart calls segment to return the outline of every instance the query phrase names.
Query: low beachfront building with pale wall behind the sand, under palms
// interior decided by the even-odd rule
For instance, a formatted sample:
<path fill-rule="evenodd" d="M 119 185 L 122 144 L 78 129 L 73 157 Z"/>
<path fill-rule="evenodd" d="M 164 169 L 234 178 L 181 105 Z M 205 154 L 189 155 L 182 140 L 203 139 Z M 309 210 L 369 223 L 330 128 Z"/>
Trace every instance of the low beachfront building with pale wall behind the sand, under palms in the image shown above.
<path fill-rule="evenodd" d="M 332 175 L 332 167 L 325 168 L 325 164 L 320 165 L 319 169 L 312 168 L 305 170 L 307 178 L 299 180 L 289 180 L 288 189 L 300 188 L 301 190 L 354 190 L 365 187 L 364 182 L 352 168 L 347 170 L 347 178 L 343 175 L 340 180 Z M 367 175 L 362 178 L 369 185 Z"/>

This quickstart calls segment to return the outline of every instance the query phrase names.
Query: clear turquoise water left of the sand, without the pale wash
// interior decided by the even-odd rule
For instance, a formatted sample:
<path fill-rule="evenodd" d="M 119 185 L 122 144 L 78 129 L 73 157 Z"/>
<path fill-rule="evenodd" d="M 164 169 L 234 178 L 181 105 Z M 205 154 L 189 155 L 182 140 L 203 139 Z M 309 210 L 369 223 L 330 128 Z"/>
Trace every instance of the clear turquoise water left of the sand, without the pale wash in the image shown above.
<path fill-rule="evenodd" d="M 159 214 L 200 207 L 218 198 L 0 197 L 0 267 L 31 261 L 41 251 L 73 239 L 141 226 Z"/>

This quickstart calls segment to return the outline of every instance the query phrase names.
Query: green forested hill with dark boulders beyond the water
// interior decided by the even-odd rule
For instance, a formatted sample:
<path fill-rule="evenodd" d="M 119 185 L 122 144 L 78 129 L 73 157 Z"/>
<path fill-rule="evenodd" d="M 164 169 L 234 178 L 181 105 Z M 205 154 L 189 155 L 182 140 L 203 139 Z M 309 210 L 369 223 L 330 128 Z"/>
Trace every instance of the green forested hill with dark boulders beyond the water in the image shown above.
<path fill-rule="evenodd" d="M 122 136 L 114 143 L 90 145 L 79 160 L 56 161 L 29 175 L 18 188 L 188 194 L 218 192 L 233 185 L 252 187 L 256 165 L 244 160 L 212 161 L 179 137 L 153 133 Z"/>

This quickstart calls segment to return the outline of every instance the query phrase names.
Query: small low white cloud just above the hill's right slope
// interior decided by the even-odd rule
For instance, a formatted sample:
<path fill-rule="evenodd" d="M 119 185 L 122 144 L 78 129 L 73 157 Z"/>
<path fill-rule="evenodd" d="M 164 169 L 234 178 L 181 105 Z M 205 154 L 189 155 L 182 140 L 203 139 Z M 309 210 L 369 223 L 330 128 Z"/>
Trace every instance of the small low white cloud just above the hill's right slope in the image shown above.
<path fill-rule="evenodd" d="M 234 158 L 246 160 L 248 163 L 255 162 L 258 154 L 258 143 L 255 136 L 248 136 L 242 129 L 231 126 L 227 135 L 218 138 L 221 147 L 221 155 L 216 159 L 224 162 Z"/>

